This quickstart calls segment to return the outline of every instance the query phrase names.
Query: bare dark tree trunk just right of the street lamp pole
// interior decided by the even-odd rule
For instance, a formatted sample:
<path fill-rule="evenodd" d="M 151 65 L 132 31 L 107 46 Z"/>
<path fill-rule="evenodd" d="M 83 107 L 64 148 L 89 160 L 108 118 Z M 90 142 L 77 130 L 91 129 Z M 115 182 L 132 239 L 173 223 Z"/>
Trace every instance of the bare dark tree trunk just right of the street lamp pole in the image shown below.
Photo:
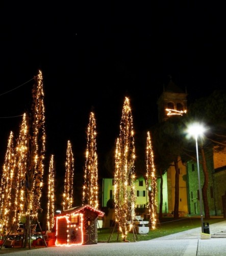
<path fill-rule="evenodd" d="M 207 197 L 209 173 L 208 173 L 208 169 L 207 169 L 206 156 L 205 156 L 203 146 L 200 148 L 200 150 L 201 150 L 201 155 L 202 155 L 202 165 L 203 165 L 203 173 L 204 173 L 204 184 L 203 184 L 203 188 L 202 188 L 204 212 L 205 212 L 205 218 L 209 219 L 210 218 L 210 210 L 209 210 L 208 197 Z"/>

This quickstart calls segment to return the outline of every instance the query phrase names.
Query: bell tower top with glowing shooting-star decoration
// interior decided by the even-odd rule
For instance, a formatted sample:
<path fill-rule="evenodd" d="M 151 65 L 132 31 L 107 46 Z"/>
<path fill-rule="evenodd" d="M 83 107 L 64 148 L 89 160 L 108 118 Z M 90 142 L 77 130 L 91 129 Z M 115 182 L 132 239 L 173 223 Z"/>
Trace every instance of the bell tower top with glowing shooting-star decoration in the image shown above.
<path fill-rule="evenodd" d="M 173 115 L 183 115 L 187 112 L 187 92 L 180 89 L 170 77 L 157 104 L 159 122 L 163 122 Z"/>

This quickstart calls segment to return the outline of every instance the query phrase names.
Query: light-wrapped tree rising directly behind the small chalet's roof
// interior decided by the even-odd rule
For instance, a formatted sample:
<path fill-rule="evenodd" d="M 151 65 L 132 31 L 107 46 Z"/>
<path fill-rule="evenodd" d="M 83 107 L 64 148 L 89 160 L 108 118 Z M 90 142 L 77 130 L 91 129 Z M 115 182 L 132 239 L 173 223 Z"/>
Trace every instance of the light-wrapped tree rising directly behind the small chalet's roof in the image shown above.
<path fill-rule="evenodd" d="M 83 185 L 82 203 L 98 209 L 98 169 L 96 154 L 96 120 L 93 112 L 90 113 L 87 129 L 86 163 Z"/>

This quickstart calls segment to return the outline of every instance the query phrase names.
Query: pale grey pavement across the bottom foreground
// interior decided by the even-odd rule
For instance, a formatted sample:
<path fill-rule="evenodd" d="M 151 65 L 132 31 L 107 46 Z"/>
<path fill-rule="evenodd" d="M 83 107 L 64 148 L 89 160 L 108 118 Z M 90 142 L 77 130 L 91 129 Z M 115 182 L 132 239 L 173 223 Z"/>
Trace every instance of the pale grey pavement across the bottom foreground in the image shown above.
<path fill-rule="evenodd" d="M 97 243 L 71 247 L 44 247 L 26 251 L 1 253 L 2 255 L 94 255 L 94 256 L 225 256 L 226 237 L 212 237 L 226 232 L 226 220 L 210 225 L 208 239 L 201 239 L 201 227 L 148 241 L 130 243 Z M 10 255 L 8 255 L 10 256 Z"/>

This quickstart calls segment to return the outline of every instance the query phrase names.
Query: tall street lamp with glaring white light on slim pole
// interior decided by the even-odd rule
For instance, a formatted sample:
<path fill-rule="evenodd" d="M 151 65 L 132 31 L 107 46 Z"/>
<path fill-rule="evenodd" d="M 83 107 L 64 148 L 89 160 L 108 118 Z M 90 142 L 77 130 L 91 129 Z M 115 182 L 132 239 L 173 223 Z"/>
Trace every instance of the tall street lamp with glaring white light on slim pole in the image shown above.
<path fill-rule="evenodd" d="M 197 155 L 197 170 L 198 170 L 198 189 L 199 189 L 199 208 L 200 208 L 200 217 L 201 217 L 201 225 L 202 225 L 202 233 L 204 233 L 204 225 L 203 225 L 203 196 L 202 196 L 202 188 L 200 184 L 200 172 L 199 172 L 199 161 L 198 161 L 198 136 L 202 136 L 204 134 L 204 127 L 202 124 L 193 123 L 188 126 L 188 134 L 193 136 L 195 139 L 196 145 L 196 155 Z"/>

